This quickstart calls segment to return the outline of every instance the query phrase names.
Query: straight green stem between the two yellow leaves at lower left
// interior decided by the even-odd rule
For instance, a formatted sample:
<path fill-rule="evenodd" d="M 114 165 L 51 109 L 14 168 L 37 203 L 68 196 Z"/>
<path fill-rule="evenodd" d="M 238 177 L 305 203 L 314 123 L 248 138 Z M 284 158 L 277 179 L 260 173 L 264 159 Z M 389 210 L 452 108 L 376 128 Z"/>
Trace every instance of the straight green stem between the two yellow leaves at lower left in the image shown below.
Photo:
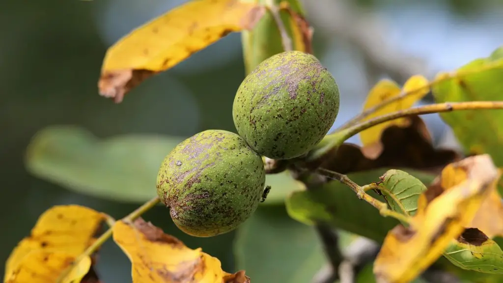
<path fill-rule="evenodd" d="M 130 213 L 128 216 L 123 218 L 121 221 L 125 222 L 132 222 L 138 217 L 140 217 L 142 214 L 146 213 L 148 210 L 150 210 L 152 207 L 157 205 L 157 203 L 160 202 L 160 199 L 156 196 L 152 198 L 151 200 L 145 202 L 143 205 L 140 207 L 136 208 L 132 213 Z M 111 224 L 112 222 L 109 221 L 107 218 L 107 222 Z M 94 252 L 96 252 L 110 237 L 112 237 L 113 234 L 113 226 L 108 228 L 105 233 L 103 233 L 96 241 L 89 246 L 83 253 L 81 253 L 68 268 L 66 268 L 63 272 L 61 272 L 59 279 L 56 282 L 62 282 L 63 279 L 70 273 L 71 269 L 75 266 L 78 265 L 78 263 L 85 257 L 91 256 Z"/>

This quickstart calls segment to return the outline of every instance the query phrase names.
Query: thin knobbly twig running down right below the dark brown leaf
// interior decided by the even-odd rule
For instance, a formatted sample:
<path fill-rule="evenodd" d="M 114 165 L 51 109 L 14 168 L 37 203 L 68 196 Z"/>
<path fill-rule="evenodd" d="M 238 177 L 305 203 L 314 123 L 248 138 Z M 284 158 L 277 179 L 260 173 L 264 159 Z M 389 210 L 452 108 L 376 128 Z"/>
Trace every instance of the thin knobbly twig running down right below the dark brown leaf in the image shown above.
<path fill-rule="evenodd" d="M 346 186 L 350 187 L 355 193 L 356 196 L 359 199 L 363 199 L 370 203 L 370 205 L 374 206 L 379 210 L 379 213 L 384 216 L 384 217 L 392 217 L 394 219 L 397 219 L 401 222 L 408 223 L 410 221 L 408 216 L 405 216 L 403 214 L 397 213 L 396 211 L 393 211 L 388 208 L 388 204 L 382 201 L 377 200 L 376 198 L 372 197 L 368 193 L 365 192 L 365 187 L 359 186 L 357 183 L 353 182 L 348 176 L 333 172 L 327 169 L 323 168 L 318 168 L 317 171 L 328 178 L 332 178 L 334 180 L 338 180 L 341 183 L 345 184 Z"/>

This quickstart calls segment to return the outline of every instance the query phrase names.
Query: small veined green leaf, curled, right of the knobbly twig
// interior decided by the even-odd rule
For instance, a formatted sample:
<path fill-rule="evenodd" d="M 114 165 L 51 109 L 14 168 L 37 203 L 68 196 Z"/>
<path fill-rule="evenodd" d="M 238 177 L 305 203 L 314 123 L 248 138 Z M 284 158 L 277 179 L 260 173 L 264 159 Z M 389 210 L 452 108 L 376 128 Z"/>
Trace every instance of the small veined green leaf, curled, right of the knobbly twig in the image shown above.
<path fill-rule="evenodd" d="M 380 184 L 381 192 L 391 209 L 401 214 L 414 216 L 417 200 L 426 186 L 405 171 L 388 170 Z"/>

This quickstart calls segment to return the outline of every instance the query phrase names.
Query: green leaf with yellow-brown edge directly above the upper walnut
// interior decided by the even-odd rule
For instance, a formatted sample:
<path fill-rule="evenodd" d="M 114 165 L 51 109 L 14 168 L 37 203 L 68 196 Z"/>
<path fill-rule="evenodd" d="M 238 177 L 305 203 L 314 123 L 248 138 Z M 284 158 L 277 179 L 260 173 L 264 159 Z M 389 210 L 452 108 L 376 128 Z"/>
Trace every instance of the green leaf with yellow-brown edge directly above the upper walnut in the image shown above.
<path fill-rule="evenodd" d="M 257 1 L 242 0 L 242 2 L 256 3 Z M 258 0 L 258 3 L 261 5 L 272 3 L 279 7 L 280 17 L 292 41 L 293 50 L 312 53 L 310 26 L 303 17 L 298 0 Z M 271 10 L 265 12 L 252 30 L 243 30 L 241 40 L 246 74 L 270 56 L 285 51 L 280 29 Z"/>

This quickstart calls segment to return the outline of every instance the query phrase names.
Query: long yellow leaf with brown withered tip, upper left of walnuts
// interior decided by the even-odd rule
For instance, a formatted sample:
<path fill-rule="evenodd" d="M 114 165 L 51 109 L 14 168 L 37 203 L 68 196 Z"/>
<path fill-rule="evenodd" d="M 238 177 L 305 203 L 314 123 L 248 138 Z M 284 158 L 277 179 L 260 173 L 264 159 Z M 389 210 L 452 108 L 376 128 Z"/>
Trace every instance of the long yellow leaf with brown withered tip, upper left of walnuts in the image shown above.
<path fill-rule="evenodd" d="M 110 47 L 100 94 L 121 102 L 146 78 L 173 67 L 231 32 L 250 29 L 264 8 L 239 0 L 192 0 L 138 27 Z"/>

